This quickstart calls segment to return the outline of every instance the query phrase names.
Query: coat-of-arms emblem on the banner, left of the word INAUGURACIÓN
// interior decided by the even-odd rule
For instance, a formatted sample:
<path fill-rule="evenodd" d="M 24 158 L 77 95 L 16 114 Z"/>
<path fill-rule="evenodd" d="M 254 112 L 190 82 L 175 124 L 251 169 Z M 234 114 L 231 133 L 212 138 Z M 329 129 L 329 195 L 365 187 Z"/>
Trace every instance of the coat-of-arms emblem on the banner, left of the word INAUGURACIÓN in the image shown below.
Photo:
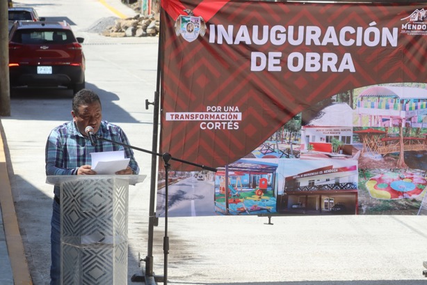
<path fill-rule="evenodd" d="M 191 43 L 198 36 L 204 36 L 206 24 L 202 17 L 195 17 L 192 10 L 185 9 L 185 15 L 179 15 L 175 22 L 175 33 L 181 35 L 184 40 Z"/>

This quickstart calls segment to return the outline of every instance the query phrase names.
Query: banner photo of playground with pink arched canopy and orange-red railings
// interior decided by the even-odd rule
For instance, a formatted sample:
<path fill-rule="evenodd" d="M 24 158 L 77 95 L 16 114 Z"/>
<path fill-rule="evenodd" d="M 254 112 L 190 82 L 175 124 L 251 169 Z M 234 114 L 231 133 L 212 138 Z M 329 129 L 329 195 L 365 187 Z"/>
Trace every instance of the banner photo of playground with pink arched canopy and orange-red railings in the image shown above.
<path fill-rule="evenodd" d="M 360 169 L 427 169 L 426 84 L 367 86 L 353 100 Z"/>

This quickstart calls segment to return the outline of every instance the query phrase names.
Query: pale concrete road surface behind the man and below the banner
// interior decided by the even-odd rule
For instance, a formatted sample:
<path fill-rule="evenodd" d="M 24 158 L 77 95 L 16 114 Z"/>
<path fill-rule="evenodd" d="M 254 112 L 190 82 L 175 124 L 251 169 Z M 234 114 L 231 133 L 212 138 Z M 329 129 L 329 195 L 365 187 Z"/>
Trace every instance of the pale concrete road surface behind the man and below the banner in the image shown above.
<path fill-rule="evenodd" d="M 109 0 L 117 1 L 120 0 Z M 85 32 L 111 17 L 105 1 L 19 0 L 41 17 L 66 17 L 85 38 L 87 87 L 101 96 L 104 118 L 131 144 L 152 146 L 158 38 L 105 38 Z M 58 12 L 59 11 L 59 12 Z M 127 12 L 131 13 L 129 10 Z M 53 189 L 45 182 L 45 142 L 71 119 L 70 91 L 20 91 L 2 117 L 19 228 L 33 284 L 49 284 Z M 147 254 L 151 157 L 136 153 L 147 179 L 129 189 L 129 279 Z M 425 216 L 181 217 L 168 219 L 168 284 L 419 285 L 427 260 Z M 154 272 L 163 275 L 165 220 L 154 229 Z M 141 263 L 144 267 L 145 263 Z M 124 280 L 122 284 L 126 284 Z M 120 284 L 121 285 L 121 284 Z"/>

